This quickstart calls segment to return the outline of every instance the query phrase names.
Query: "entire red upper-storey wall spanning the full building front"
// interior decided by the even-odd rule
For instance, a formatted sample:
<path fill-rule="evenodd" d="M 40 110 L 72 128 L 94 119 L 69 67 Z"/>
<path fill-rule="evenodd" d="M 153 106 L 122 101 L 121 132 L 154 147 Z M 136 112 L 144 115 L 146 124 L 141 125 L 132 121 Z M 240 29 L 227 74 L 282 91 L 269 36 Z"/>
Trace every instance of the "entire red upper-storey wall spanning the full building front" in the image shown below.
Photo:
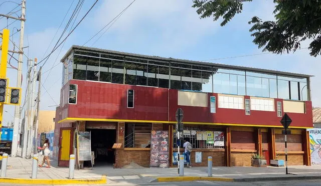
<path fill-rule="evenodd" d="M 178 106 L 178 90 L 80 80 L 70 80 L 69 83 L 78 84 L 78 94 L 77 104 L 69 104 L 68 117 L 176 121 L 175 112 L 182 108 L 185 122 L 281 126 L 281 117 L 277 117 L 276 111 L 251 110 L 250 115 L 245 115 L 244 109 L 218 108 L 218 103 L 216 113 L 210 113 L 210 107 Z M 127 108 L 127 89 L 134 90 L 134 108 Z M 218 98 L 216 93 L 209 93 L 208 105 L 210 96 Z M 282 100 L 274 101 L 276 107 L 276 102 Z M 292 119 L 290 126 L 313 127 L 311 102 L 307 101 L 305 105 L 305 114 L 288 113 Z"/>

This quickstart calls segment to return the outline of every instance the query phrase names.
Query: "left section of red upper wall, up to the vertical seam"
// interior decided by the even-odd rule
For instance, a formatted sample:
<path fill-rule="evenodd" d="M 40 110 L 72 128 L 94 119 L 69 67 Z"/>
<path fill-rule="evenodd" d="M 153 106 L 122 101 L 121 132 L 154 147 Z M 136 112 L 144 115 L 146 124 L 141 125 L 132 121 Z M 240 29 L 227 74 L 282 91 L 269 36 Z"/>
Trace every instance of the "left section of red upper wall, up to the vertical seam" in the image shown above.
<path fill-rule="evenodd" d="M 168 89 L 71 80 L 78 84 L 77 104 L 68 117 L 168 121 Z M 134 108 L 127 108 L 127 90 Z"/>

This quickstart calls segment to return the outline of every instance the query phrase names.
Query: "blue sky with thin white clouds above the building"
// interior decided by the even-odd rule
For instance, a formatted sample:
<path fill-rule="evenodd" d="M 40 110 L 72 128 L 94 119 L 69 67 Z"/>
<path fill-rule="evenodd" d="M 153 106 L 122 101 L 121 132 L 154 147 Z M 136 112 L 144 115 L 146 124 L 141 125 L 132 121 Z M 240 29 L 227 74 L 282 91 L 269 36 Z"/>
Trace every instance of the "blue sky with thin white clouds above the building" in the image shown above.
<path fill-rule="evenodd" d="M 20 2 L 19 0 L 14 1 Z M 29 55 L 29 58 L 41 60 L 52 50 L 77 2 L 77 0 L 27 0 L 24 46 L 29 46 L 29 50 L 25 49 L 25 53 Z M 93 2 L 93 0 L 85 1 L 76 22 L 87 12 Z M 100 0 L 81 25 L 68 38 L 63 47 L 53 53 L 44 66 L 43 72 L 60 63 L 61 57 L 72 45 L 83 45 L 130 2 L 128 0 Z M 71 4 L 72 8 L 67 18 L 62 27 L 58 29 Z M 213 22 L 212 18 L 200 20 L 196 14 L 196 9 L 192 8 L 192 5 L 192 0 L 137 0 L 96 43 L 94 41 L 100 35 L 85 46 L 189 60 L 209 60 L 262 53 L 261 49 L 258 49 L 252 43 L 253 38 L 249 32 L 251 26 L 247 22 L 253 16 L 258 16 L 263 20 L 274 19 L 272 14 L 274 4 L 272 1 L 262 0 L 245 3 L 243 13 L 236 15 L 225 27 L 220 26 L 220 21 Z M 12 3 L 3 4 L 0 7 L 0 13 L 7 14 L 14 7 L 16 5 Z M 18 14 L 20 15 L 20 12 Z M 11 22 L 9 20 L 9 23 Z M 1 19 L 0 26 L 0 29 L 6 27 L 7 20 Z M 13 32 L 14 27 L 20 28 L 20 24 L 16 22 L 11 25 L 9 27 L 11 32 Z M 58 34 L 50 45 L 57 30 Z M 19 35 L 16 34 L 13 40 L 18 44 Z M 304 42 L 301 45 L 302 48 L 306 46 L 308 46 L 308 42 Z M 49 51 L 46 53 L 48 47 Z M 321 65 L 318 62 L 320 57 L 314 58 L 309 56 L 308 53 L 308 50 L 302 49 L 294 54 L 264 54 L 210 60 L 209 62 L 315 75 L 316 77 L 311 79 L 311 95 L 313 106 L 318 107 L 321 106 L 321 98 L 318 96 L 321 94 L 321 88 L 318 86 L 321 83 L 318 78 L 319 69 L 321 69 Z M 18 56 L 16 57 L 18 58 Z M 26 59 L 25 57 L 24 80 L 27 73 Z M 12 60 L 11 63 L 17 66 L 15 60 Z M 44 74 L 43 78 L 46 79 L 48 74 Z M 42 110 L 55 110 L 55 107 L 48 106 L 59 104 L 61 74 L 62 65 L 53 68 L 49 74 L 45 87 L 52 98 L 43 88 L 41 97 Z M 11 81 L 10 85 L 16 86 L 17 71 L 8 69 L 8 77 Z M 23 88 L 25 88 L 25 85 L 26 82 L 24 81 Z M 13 120 L 14 107 L 6 105 L 5 110 L 8 111 L 8 113 L 4 113 L 5 121 Z"/>

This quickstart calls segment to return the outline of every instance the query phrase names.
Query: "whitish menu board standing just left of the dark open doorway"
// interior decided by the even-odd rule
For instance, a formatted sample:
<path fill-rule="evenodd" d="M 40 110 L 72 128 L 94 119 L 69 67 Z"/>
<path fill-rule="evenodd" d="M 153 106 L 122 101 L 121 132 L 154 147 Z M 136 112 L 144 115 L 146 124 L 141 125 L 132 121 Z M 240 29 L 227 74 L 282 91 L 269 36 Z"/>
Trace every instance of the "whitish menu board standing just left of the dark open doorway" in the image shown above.
<path fill-rule="evenodd" d="M 91 161 L 90 132 L 78 132 L 78 160 Z"/>

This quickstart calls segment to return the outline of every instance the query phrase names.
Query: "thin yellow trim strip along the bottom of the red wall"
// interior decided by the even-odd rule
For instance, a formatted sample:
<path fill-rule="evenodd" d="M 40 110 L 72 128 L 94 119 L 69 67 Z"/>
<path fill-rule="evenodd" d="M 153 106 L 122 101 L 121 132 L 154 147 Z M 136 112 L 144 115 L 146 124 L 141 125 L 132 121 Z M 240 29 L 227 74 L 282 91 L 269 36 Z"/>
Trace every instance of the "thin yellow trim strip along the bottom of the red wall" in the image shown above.
<path fill-rule="evenodd" d="M 67 117 L 58 121 L 58 123 L 68 122 L 68 121 L 109 121 L 109 122 L 137 122 L 137 123 L 177 123 L 176 121 L 154 121 L 154 120 L 129 120 L 129 119 L 98 119 L 98 118 L 74 118 Z M 225 126 L 251 126 L 251 127 L 277 127 L 283 128 L 281 125 L 253 125 L 253 124 L 234 124 L 234 123 L 208 123 L 208 122 L 184 122 L 185 124 L 194 125 L 225 125 Z M 289 126 L 289 128 L 313 128 L 313 127 L 299 127 L 299 126 Z"/>

